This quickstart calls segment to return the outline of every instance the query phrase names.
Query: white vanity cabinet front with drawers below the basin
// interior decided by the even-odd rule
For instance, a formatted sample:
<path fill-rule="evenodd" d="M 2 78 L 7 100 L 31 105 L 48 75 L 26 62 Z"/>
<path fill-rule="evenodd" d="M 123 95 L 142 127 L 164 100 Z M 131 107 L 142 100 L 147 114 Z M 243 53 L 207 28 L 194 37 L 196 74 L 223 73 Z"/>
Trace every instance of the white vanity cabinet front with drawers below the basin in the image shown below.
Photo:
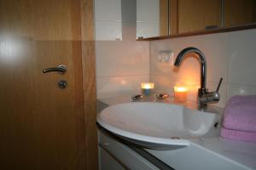
<path fill-rule="evenodd" d="M 100 170 L 160 170 L 125 144 L 98 130 Z"/>

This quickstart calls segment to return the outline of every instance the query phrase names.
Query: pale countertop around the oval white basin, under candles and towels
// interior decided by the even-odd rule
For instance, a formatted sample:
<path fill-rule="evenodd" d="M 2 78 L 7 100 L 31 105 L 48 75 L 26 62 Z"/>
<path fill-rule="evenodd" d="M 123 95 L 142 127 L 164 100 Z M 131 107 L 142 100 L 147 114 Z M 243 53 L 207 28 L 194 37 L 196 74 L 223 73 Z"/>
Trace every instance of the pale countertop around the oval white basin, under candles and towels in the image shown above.
<path fill-rule="evenodd" d="M 187 101 L 183 103 L 176 102 L 172 97 L 167 99 L 158 100 L 154 95 L 141 100 L 149 102 L 161 102 L 161 103 L 172 103 L 177 105 L 185 105 L 190 109 L 196 109 L 195 102 Z M 117 105 L 121 103 L 131 102 L 131 95 L 121 95 L 113 98 L 97 99 L 97 109 L 102 111 L 102 109 L 108 107 L 108 105 Z M 222 114 L 223 108 L 212 107 L 212 111 Z M 256 169 L 256 144 L 240 142 L 235 140 L 223 139 L 219 136 L 208 137 L 201 139 L 191 139 L 191 143 L 201 147 L 201 149 L 211 152 L 217 156 L 223 157 L 229 161 L 232 161 L 241 167 L 246 169 Z"/>

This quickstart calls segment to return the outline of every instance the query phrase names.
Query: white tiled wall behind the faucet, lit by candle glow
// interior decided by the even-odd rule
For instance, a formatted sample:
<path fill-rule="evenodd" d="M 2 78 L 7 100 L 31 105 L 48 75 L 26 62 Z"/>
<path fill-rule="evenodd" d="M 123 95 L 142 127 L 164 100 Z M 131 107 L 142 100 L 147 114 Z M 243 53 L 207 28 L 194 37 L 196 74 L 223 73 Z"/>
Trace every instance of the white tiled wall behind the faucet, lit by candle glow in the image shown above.
<path fill-rule="evenodd" d="M 173 95 L 174 85 L 189 85 L 189 99 L 196 100 L 200 84 L 197 59 L 183 60 L 178 70 L 157 60 L 158 51 L 173 50 L 177 56 L 187 47 L 199 48 L 206 55 L 207 88 L 215 90 L 219 78 L 224 77 L 218 106 L 224 107 L 233 95 L 256 94 L 256 29 L 150 42 L 149 79 L 159 93 Z"/>

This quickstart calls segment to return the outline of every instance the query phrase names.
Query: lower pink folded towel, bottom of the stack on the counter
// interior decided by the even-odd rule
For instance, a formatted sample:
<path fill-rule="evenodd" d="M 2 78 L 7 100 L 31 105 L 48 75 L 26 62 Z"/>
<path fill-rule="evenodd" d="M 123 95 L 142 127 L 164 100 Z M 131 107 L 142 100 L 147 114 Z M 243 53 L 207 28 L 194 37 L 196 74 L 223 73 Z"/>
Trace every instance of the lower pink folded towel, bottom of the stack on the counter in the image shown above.
<path fill-rule="evenodd" d="M 220 136 L 223 137 L 224 139 L 233 139 L 233 140 L 256 143 L 256 133 L 253 133 L 253 132 L 230 130 L 222 127 L 220 131 Z"/>

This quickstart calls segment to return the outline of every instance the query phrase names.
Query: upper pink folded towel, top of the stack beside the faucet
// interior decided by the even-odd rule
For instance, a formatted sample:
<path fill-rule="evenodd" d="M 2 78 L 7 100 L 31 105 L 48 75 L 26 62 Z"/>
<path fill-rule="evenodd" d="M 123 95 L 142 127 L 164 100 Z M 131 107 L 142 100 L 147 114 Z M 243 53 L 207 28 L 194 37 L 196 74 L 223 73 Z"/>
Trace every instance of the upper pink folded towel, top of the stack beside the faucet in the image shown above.
<path fill-rule="evenodd" d="M 223 126 L 233 130 L 256 132 L 256 95 L 232 97 L 224 110 Z"/>

